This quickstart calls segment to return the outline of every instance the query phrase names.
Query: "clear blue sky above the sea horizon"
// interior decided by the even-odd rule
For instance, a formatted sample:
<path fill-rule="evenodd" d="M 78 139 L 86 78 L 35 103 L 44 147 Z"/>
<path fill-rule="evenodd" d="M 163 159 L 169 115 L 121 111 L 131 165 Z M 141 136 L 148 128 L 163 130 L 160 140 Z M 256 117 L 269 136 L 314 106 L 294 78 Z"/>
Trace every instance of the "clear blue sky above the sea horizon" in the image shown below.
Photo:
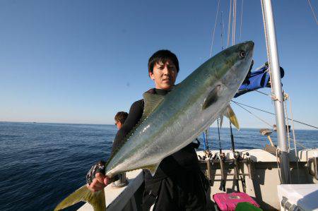
<path fill-rule="evenodd" d="M 0 121 L 113 123 L 117 111 L 128 111 L 153 87 L 147 75 L 153 52 L 177 54 L 177 83 L 208 59 L 217 2 L 0 1 Z M 318 13 L 318 1 L 311 3 Z M 255 42 L 256 68 L 266 61 L 261 5 L 244 1 L 239 40 L 241 4 L 237 0 L 236 40 Z M 229 1 L 221 1 L 225 29 L 228 10 Z M 213 54 L 221 49 L 220 11 Z M 273 1 L 273 11 L 294 119 L 318 126 L 318 27 L 310 6 Z M 257 92 L 237 102 L 273 111 L 269 97 Z M 243 128 L 268 127 L 232 107 Z"/>

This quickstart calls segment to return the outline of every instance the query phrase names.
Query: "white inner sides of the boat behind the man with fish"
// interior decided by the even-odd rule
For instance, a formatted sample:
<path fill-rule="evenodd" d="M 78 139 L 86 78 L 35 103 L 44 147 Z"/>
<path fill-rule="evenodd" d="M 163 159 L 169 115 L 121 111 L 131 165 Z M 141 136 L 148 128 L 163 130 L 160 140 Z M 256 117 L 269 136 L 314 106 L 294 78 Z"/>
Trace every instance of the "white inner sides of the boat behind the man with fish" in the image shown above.
<path fill-rule="evenodd" d="M 261 149 L 237 150 L 241 156 L 246 152 L 252 160 L 252 172 L 249 172 L 246 163 L 240 164 L 240 173 L 242 178 L 239 181 L 240 191 L 245 189 L 245 192 L 252 196 L 254 200 L 261 205 L 264 210 L 279 210 L 280 203 L 278 200 L 277 186 L 281 184 L 279 178 L 279 169 L 277 166 L 277 158 L 269 152 Z M 213 156 L 218 155 L 218 150 L 211 151 Z M 226 159 L 233 159 L 233 153 L 230 150 L 223 150 Z M 201 157 L 204 155 L 203 151 L 198 151 L 197 155 Z M 296 159 L 294 153 L 289 153 L 290 169 L 293 183 L 318 183 L 314 176 L 308 174 L 306 170 L 307 159 L 310 157 L 318 157 L 318 149 L 301 150 L 298 152 L 300 171 L 296 169 Z M 207 175 L 206 161 L 200 161 L 201 169 Z M 226 169 L 226 183 L 225 191 L 221 191 L 220 187 L 221 172 L 218 162 L 211 164 L 211 188 L 209 195 L 211 202 L 209 208 L 212 207 L 212 195 L 215 193 L 231 193 L 235 191 L 234 169 L 230 162 L 225 164 Z M 251 173 L 251 174 L 249 174 Z M 182 176 L 182 175 L 180 175 Z M 107 211 L 111 210 L 140 210 L 141 196 L 143 193 L 143 172 L 141 169 L 136 171 L 126 172 L 126 177 L 129 181 L 128 186 L 122 188 L 113 188 L 111 185 L 105 188 L 105 199 Z M 243 188 L 242 179 L 245 180 L 245 188 Z M 318 190 L 317 190 L 318 191 Z M 79 210 L 88 211 L 93 210 L 93 207 L 86 203 Z"/>

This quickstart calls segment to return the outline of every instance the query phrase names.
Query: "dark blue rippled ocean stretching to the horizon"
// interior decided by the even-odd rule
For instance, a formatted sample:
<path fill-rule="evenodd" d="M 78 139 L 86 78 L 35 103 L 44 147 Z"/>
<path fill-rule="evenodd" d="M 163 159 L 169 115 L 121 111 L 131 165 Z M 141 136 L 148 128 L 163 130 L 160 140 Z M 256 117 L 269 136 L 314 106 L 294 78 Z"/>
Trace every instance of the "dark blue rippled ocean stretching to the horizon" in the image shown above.
<path fill-rule="evenodd" d="M 114 125 L 0 122 L 0 210 L 53 210 L 86 183 L 92 164 L 110 155 L 116 132 Z M 269 143 L 259 129 L 233 133 L 237 148 L 263 148 Z M 317 147 L 318 131 L 295 134 L 305 147 Z M 271 137 L 275 143 L 276 133 Z M 222 148 L 230 149 L 229 128 L 220 130 L 220 139 Z M 202 136 L 199 140 L 202 149 Z M 210 128 L 208 145 L 218 149 L 217 128 Z"/>

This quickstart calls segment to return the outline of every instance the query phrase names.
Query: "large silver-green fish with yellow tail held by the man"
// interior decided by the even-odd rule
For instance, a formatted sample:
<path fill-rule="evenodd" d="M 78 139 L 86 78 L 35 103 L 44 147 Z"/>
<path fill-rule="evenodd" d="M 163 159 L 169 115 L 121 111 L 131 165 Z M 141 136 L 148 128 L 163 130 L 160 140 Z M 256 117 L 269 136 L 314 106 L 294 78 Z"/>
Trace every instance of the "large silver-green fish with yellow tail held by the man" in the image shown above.
<path fill-rule="evenodd" d="M 145 108 L 126 142 L 108 159 L 107 176 L 134 169 L 155 171 L 163 158 L 192 142 L 228 109 L 252 62 L 254 43 L 243 42 L 208 59 L 165 97 L 145 93 Z M 230 119 L 235 119 L 228 115 Z M 236 121 L 236 119 L 235 119 Z M 87 201 L 105 210 L 104 191 L 92 193 L 83 186 L 55 210 Z"/>

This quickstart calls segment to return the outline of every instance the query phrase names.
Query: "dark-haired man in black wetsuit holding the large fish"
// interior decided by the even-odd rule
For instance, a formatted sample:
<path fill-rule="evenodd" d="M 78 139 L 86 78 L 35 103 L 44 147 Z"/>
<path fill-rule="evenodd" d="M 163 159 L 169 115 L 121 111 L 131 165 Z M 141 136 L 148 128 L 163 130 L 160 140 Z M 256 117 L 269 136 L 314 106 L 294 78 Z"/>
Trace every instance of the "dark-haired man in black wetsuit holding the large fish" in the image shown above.
<path fill-rule="evenodd" d="M 148 60 L 148 75 L 154 81 L 155 88 L 147 92 L 165 96 L 175 85 L 178 72 L 179 61 L 175 54 L 168 50 L 155 52 Z M 143 106 L 143 100 L 131 105 L 124 125 L 117 132 L 113 150 L 122 145 L 125 136 L 139 122 Z M 187 145 L 163 159 L 154 176 L 148 170 L 144 173 L 143 210 L 151 207 L 153 210 L 206 210 L 205 178 L 199 169 L 194 145 Z M 88 185 L 92 191 L 102 190 L 109 182 L 102 174 L 102 168 L 91 172 L 91 175 L 96 176 Z"/>

